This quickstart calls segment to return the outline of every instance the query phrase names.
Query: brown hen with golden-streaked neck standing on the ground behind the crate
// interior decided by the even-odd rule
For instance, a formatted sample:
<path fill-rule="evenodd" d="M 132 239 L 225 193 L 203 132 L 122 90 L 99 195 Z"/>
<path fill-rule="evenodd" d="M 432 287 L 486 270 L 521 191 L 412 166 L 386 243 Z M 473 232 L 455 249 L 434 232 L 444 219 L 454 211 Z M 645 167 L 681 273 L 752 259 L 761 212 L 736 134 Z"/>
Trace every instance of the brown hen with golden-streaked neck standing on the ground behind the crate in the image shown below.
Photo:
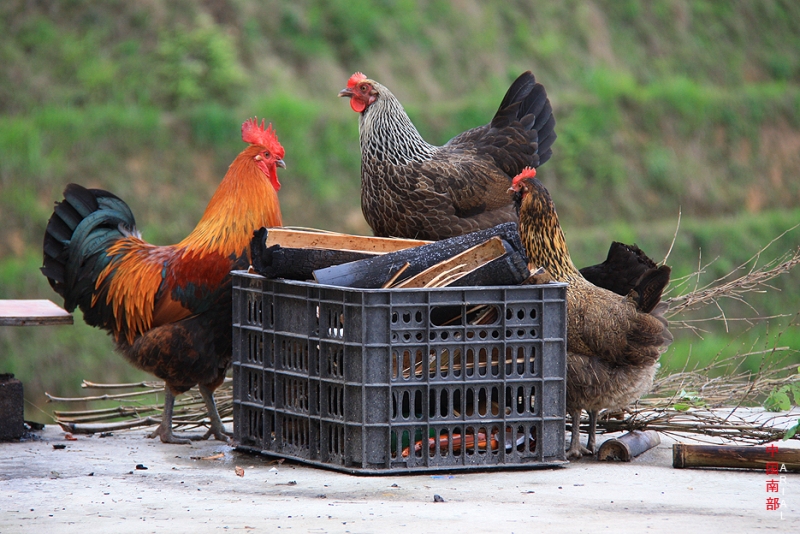
<path fill-rule="evenodd" d="M 552 280 L 567 282 L 567 413 L 572 439 L 567 456 L 593 454 L 600 410 L 627 406 L 653 384 L 658 358 L 672 342 L 661 293 L 670 268 L 654 267 L 625 296 L 588 282 L 570 259 L 555 205 L 532 168 L 514 178 L 510 192 L 530 263 Z M 581 410 L 589 414 L 587 447 L 580 443 Z"/>

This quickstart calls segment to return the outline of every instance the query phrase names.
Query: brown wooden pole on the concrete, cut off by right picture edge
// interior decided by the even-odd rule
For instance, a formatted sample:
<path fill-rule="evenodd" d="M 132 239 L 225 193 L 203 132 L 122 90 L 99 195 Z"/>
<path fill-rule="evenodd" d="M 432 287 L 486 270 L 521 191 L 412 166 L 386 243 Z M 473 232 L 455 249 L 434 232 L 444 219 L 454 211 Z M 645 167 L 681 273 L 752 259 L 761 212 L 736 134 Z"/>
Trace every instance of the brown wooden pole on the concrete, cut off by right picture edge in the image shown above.
<path fill-rule="evenodd" d="M 767 463 L 778 469 L 800 472 L 800 449 L 773 445 L 746 447 L 738 445 L 687 445 L 672 446 L 672 467 L 734 467 L 766 470 Z"/>

